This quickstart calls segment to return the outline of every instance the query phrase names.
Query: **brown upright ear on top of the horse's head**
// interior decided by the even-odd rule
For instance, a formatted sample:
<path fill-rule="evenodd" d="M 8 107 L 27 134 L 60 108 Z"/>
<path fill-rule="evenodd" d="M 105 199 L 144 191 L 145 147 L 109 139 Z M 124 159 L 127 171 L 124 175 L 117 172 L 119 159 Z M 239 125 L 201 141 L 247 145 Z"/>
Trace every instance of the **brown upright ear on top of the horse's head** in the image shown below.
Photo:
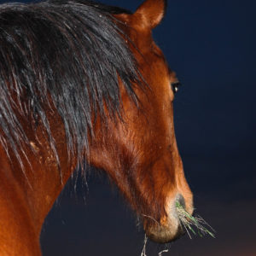
<path fill-rule="evenodd" d="M 167 0 L 146 0 L 139 6 L 135 15 L 142 17 L 142 26 L 153 29 L 163 19 L 166 13 L 166 7 Z"/>

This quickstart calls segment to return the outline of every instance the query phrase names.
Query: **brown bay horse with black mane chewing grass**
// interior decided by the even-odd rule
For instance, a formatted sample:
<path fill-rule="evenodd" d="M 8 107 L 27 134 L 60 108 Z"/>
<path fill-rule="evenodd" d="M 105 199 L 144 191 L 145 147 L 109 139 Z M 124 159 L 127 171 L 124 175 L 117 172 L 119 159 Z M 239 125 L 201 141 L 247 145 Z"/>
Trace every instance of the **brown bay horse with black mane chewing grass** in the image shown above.
<path fill-rule="evenodd" d="M 0 6 L 0 254 L 41 255 L 44 218 L 84 162 L 107 172 L 146 235 L 192 214 L 173 125 L 179 82 L 154 43 L 165 0 Z"/>

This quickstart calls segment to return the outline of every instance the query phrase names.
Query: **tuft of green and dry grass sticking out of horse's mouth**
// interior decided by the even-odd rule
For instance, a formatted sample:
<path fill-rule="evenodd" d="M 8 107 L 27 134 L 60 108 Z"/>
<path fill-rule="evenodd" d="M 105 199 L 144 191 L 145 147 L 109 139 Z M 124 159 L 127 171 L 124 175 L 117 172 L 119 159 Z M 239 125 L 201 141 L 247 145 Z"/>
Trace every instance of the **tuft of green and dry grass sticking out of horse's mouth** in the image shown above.
<path fill-rule="evenodd" d="M 192 239 L 192 237 L 189 231 L 191 231 L 195 236 L 209 235 L 215 238 L 213 234 L 214 230 L 203 218 L 201 218 L 201 216 L 192 216 L 178 201 L 176 202 L 176 210 L 179 221 L 183 225 L 183 228 L 187 231 L 190 239 Z M 192 226 L 195 226 L 196 230 L 194 230 Z M 212 231 L 208 230 L 205 226 L 208 226 L 208 228 Z"/>

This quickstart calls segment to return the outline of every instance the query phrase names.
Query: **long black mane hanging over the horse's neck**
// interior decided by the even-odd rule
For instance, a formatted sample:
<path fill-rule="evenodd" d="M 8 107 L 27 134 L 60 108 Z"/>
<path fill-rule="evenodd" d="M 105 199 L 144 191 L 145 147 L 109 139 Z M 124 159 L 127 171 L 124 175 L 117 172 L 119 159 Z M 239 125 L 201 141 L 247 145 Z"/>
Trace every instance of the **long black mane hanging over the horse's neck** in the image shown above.
<path fill-rule="evenodd" d="M 80 162 L 93 117 L 120 115 L 119 79 L 137 101 L 132 84 L 142 79 L 111 15 L 119 13 L 129 12 L 81 0 L 0 6 L 0 142 L 18 160 L 29 146 L 20 115 L 44 125 L 58 160 L 46 113 L 54 106 Z"/>

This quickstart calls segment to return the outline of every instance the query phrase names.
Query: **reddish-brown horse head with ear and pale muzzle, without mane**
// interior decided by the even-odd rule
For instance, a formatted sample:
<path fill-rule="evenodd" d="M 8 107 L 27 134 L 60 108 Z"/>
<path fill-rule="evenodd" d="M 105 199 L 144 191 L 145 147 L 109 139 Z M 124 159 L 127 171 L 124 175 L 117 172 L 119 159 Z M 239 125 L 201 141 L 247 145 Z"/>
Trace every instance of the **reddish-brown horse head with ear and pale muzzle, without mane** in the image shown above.
<path fill-rule="evenodd" d="M 147 236 L 157 242 L 172 241 L 183 233 L 177 202 L 193 212 L 173 125 L 177 77 L 152 38 L 165 11 L 166 1 L 147 0 L 134 14 L 114 15 L 146 86 L 142 90 L 133 84 L 137 106 L 119 83 L 121 118 L 108 124 L 108 132 L 102 133 L 97 125 L 89 154 L 90 164 L 108 172 L 143 219 Z"/>

